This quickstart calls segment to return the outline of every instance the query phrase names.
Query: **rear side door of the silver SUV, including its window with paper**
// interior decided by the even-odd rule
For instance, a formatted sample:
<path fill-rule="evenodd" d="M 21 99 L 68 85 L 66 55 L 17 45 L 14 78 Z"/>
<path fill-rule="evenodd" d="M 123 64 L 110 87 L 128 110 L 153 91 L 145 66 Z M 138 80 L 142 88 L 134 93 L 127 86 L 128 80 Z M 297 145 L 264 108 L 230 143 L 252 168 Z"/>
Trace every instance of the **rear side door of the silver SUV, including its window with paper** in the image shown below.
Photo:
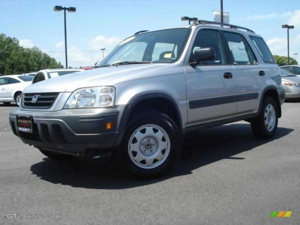
<path fill-rule="evenodd" d="M 250 44 L 241 33 L 223 32 L 228 58 L 236 72 L 237 111 L 236 116 L 256 113 L 261 89 L 260 71 L 263 71 Z"/>

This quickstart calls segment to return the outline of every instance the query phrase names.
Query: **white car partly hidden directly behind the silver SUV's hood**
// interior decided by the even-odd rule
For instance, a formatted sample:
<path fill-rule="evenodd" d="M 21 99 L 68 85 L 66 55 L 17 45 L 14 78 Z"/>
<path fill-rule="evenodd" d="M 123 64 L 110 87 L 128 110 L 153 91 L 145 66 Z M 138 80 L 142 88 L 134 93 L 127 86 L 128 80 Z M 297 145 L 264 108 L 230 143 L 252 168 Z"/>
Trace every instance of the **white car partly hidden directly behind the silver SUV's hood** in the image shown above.
<path fill-rule="evenodd" d="M 32 79 L 32 84 L 35 84 L 37 82 L 47 80 L 50 78 L 62 76 L 68 73 L 76 73 L 79 71 L 84 71 L 82 69 L 46 69 L 46 70 L 40 70 L 38 73 L 34 76 Z"/>

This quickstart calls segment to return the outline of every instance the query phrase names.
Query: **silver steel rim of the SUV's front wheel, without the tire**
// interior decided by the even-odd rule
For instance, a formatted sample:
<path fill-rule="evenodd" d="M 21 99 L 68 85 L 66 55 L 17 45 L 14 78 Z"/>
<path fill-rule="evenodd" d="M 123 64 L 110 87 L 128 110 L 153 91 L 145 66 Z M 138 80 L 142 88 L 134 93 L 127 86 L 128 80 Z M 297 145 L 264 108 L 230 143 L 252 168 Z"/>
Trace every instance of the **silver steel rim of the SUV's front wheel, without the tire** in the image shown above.
<path fill-rule="evenodd" d="M 169 153 L 169 135 L 158 125 L 143 125 L 129 139 L 128 154 L 131 161 L 140 168 L 153 169 L 160 166 Z"/>

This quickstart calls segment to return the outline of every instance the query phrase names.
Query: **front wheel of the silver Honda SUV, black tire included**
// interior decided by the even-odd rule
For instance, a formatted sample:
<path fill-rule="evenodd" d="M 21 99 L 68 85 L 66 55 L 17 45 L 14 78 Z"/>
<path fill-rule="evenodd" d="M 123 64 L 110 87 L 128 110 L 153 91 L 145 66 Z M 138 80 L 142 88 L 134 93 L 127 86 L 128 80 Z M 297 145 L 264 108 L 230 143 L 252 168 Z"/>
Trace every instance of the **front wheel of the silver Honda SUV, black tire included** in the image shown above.
<path fill-rule="evenodd" d="M 116 156 L 130 172 L 158 177 L 173 167 L 180 150 L 179 130 L 173 120 L 164 113 L 148 111 L 128 124 Z"/>

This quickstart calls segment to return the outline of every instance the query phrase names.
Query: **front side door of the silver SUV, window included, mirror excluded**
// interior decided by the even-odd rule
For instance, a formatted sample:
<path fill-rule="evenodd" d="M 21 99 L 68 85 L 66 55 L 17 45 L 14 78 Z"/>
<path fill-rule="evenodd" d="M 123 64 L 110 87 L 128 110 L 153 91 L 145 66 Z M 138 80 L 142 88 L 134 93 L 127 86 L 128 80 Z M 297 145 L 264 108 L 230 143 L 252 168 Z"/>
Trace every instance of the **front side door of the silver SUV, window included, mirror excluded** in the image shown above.
<path fill-rule="evenodd" d="M 234 117 L 237 106 L 235 70 L 227 63 L 220 31 L 199 29 L 195 35 L 188 52 L 189 61 L 193 61 L 196 49 L 207 47 L 214 49 L 216 58 L 195 67 L 184 66 L 188 126 Z"/>

